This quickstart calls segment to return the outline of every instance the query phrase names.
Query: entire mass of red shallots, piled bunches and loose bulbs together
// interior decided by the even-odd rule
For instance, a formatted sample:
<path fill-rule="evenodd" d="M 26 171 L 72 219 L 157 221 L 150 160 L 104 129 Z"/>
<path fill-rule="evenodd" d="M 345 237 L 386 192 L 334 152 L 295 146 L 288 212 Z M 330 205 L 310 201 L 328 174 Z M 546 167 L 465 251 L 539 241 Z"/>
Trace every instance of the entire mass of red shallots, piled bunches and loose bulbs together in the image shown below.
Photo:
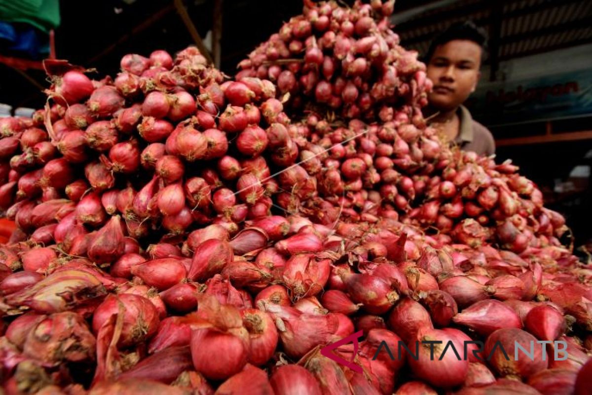
<path fill-rule="evenodd" d="M 305 2 L 235 79 L 194 48 L 46 64 L 50 104 L 0 120 L 6 393 L 587 390 L 592 273 L 514 166 L 426 127 L 392 3 Z M 362 372 L 321 352 L 360 330 Z M 536 340 L 570 358 L 514 360 Z"/>

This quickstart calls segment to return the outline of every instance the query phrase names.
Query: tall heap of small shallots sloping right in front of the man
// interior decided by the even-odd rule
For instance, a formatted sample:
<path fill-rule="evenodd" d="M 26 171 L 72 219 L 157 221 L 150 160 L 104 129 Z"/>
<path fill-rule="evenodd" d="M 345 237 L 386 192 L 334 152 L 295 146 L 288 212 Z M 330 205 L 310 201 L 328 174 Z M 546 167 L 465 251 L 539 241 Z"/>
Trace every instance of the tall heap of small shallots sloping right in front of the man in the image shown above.
<path fill-rule="evenodd" d="M 432 82 L 417 53 L 398 45 L 390 30 L 394 2 L 351 9 L 304 3 L 304 14 L 250 53 L 236 78 L 274 82 L 280 94 L 289 94 L 288 115 L 304 118 L 300 134 L 340 160 L 341 176 L 332 171 L 336 162 L 324 163 L 323 179 L 331 186 L 321 195 L 378 190 L 382 203 L 410 223 L 470 245 L 495 241 L 517 253 L 560 245 L 564 219 L 543 208 L 541 192 L 516 174 L 516 166 L 452 154 L 426 128 L 421 107 Z M 349 121 L 349 131 L 330 130 L 322 115 L 333 112 Z M 300 160 L 315 153 L 301 152 Z M 351 160 L 344 165 L 344 158 Z M 310 160 L 308 166 L 317 164 Z"/>

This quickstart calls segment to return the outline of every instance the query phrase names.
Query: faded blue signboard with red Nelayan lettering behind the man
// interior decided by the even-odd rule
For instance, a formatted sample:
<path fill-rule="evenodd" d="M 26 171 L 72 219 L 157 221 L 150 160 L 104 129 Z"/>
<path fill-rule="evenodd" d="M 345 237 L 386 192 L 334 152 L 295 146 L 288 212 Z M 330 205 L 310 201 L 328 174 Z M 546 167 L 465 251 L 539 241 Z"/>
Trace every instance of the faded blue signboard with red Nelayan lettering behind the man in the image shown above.
<path fill-rule="evenodd" d="M 592 115 L 592 70 L 484 84 L 466 105 L 486 126 Z"/>

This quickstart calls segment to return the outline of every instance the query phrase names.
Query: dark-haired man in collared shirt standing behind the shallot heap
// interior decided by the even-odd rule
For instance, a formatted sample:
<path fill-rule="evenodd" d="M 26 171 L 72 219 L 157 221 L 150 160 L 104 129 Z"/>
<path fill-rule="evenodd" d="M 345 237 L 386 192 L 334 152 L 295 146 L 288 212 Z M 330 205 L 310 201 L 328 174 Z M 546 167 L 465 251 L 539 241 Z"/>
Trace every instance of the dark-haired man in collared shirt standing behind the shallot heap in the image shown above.
<path fill-rule="evenodd" d="M 426 117 L 444 140 L 479 155 L 496 151 L 491 132 L 462 105 L 477 88 L 485 34 L 471 22 L 456 23 L 440 34 L 426 55 L 427 77 L 434 86 Z"/>

